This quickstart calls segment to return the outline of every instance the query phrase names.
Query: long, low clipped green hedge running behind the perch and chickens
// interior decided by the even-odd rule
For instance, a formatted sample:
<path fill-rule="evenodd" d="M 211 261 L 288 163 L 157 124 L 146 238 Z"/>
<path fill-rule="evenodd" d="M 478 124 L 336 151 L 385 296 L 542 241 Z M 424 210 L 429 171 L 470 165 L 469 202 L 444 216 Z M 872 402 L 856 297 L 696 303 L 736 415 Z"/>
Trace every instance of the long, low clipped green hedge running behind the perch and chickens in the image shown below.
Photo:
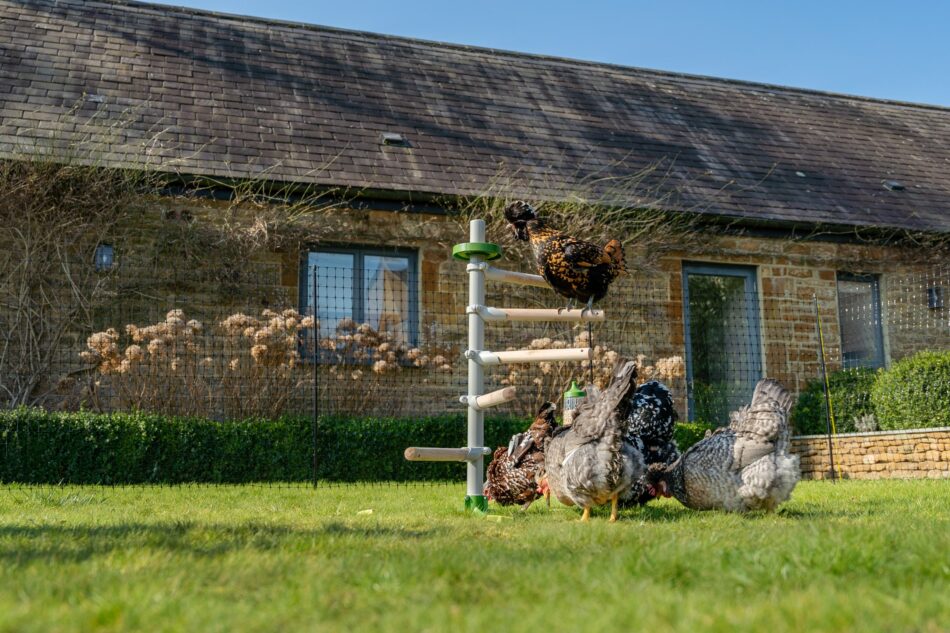
<path fill-rule="evenodd" d="M 488 446 L 503 446 L 526 420 L 488 418 Z M 678 425 L 681 448 L 705 425 Z M 326 417 L 316 429 L 323 481 L 464 478 L 458 463 L 408 462 L 407 446 L 463 446 L 462 415 L 412 419 Z M 216 422 L 147 413 L 111 415 L 0 411 L 0 481 L 34 484 L 249 483 L 311 481 L 310 418 Z"/>

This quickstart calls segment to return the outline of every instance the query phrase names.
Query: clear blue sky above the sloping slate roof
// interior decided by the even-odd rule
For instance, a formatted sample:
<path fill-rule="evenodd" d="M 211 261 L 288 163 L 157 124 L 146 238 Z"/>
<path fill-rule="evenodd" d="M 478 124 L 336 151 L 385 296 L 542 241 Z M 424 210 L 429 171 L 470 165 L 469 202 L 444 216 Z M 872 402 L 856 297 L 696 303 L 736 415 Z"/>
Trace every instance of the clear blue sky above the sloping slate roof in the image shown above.
<path fill-rule="evenodd" d="M 163 4 L 950 106 L 950 2 L 942 0 Z"/>

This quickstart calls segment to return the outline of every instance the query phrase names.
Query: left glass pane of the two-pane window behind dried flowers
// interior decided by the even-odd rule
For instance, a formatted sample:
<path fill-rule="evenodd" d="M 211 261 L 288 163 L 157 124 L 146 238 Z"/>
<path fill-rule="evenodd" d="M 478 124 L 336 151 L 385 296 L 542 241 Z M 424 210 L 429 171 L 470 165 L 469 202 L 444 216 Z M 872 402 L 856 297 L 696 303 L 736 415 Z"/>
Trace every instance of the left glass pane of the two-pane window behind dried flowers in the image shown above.
<path fill-rule="evenodd" d="M 307 258 L 307 308 L 313 306 L 313 271 L 317 271 L 317 319 L 320 337 L 336 333 L 344 319 L 353 318 L 353 270 L 355 257 L 349 253 L 310 253 Z"/>

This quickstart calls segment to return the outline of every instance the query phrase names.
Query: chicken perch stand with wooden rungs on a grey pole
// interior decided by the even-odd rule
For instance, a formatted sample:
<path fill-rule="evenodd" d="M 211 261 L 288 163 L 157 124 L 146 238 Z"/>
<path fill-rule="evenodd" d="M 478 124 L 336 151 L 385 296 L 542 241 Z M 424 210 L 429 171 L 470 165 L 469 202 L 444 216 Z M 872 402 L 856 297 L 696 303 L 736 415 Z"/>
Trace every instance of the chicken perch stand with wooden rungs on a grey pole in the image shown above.
<path fill-rule="evenodd" d="M 540 275 L 529 275 L 509 270 L 500 270 L 488 262 L 501 257 L 497 244 L 485 241 L 485 221 L 472 220 L 469 242 L 456 244 L 452 256 L 468 262 L 468 394 L 459 401 L 468 407 L 468 446 L 462 448 L 406 449 L 405 457 L 411 461 L 459 461 L 467 462 L 468 477 L 465 494 L 465 509 L 486 512 L 488 500 L 484 495 L 485 456 L 491 449 L 485 444 L 485 409 L 510 402 L 515 398 L 513 387 L 491 393 L 485 391 L 485 366 L 505 363 L 541 363 L 549 361 L 590 360 L 590 347 L 554 350 L 516 350 L 492 352 L 485 347 L 485 324 L 493 321 L 603 321 L 602 310 L 535 310 L 492 308 L 485 305 L 485 281 L 548 287 Z"/>

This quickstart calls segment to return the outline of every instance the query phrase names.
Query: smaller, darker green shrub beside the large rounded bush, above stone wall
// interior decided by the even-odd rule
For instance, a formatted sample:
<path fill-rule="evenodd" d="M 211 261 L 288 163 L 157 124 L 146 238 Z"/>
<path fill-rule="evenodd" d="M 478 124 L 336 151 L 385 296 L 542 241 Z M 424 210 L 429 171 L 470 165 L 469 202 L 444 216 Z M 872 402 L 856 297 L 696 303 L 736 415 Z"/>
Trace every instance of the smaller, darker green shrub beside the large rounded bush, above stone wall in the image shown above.
<path fill-rule="evenodd" d="M 828 374 L 835 430 L 852 433 L 857 420 L 874 412 L 871 387 L 877 371 L 868 368 L 844 369 Z M 820 378 L 809 382 L 792 408 L 792 427 L 800 435 L 827 432 L 825 422 L 825 385 Z"/>

